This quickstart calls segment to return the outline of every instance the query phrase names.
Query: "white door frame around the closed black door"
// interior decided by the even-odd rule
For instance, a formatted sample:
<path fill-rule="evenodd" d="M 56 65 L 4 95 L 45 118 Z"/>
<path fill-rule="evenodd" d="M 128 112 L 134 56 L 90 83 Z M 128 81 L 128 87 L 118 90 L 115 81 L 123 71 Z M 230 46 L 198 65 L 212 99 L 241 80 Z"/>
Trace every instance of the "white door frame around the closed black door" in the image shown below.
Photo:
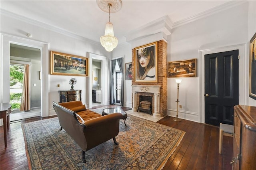
<path fill-rule="evenodd" d="M 199 75 L 200 75 L 200 83 L 199 83 L 199 89 L 200 89 L 200 114 L 199 114 L 199 120 L 200 123 L 205 123 L 205 112 L 204 112 L 204 55 L 206 54 L 212 54 L 212 53 L 220 53 L 225 51 L 232 51 L 235 49 L 239 50 L 238 55 L 240 56 L 239 59 L 239 104 L 244 105 L 244 101 L 246 99 L 246 90 L 248 88 L 245 88 L 245 80 L 247 79 L 245 77 L 245 68 L 246 68 L 246 62 L 247 58 L 246 51 L 245 51 L 246 44 L 237 44 L 237 45 L 230 45 L 230 46 L 224 46 L 224 47 L 216 47 L 211 49 L 200 49 L 200 59 L 199 59 Z"/>

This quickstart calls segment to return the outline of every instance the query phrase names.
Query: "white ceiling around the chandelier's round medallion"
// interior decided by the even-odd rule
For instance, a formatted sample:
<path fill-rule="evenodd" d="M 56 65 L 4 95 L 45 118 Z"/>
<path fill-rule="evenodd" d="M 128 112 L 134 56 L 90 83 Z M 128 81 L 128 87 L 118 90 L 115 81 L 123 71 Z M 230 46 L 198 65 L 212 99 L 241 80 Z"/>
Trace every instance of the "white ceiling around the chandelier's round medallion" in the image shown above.
<path fill-rule="evenodd" d="M 230 0 L 122 0 L 122 8 L 110 14 L 110 22 L 120 44 L 133 30 L 164 16 L 175 24 L 227 2 Z M 108 22 L 108 13 L 100 10 L 96 0 L 1 0 L 0 8 L 95 42 L 100 42 Z"/>

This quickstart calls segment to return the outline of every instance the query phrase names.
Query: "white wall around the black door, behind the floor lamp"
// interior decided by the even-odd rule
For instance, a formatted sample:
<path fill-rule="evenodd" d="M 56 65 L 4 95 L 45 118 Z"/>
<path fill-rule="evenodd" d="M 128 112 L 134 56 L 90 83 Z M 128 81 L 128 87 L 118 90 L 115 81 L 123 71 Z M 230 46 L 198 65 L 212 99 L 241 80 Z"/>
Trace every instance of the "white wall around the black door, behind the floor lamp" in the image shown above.
<path fill-rule="evenodd" d="M 182 105 L 182 109 L 179 110 L 179 117 L 204 122 L 200 115 L 202 114 L 200 110 L 200 78 L 204 75 L 204 73 L 200 73 L 200 51 L 225 51 L 226 49 L 228 51 L 232 48 L 239 48 L 239 102 L 244 105 L 256 106 L 256 101 L 248 97 L 248 88 L 246 88 L 248 87 L 248 78 L 246 81 L 244 80 L 244 77 L 248 77 L 246 67 L 248 41 L 256 32 L 255 5 L 256 2 L 250 1 L 249 5 L 248 2 L 245 2 L 172 29 L 172 34 L 168 36 L 167 62 L 197 58 L 197 77 L 184 77 L 180 84 L 179 105 Z M 249 22 L 250 24 L 248 24 Z M 132 54 L 128 49 L 130 49 L 129 45 L 118 47 L 114 50 L 113 57 L 125 55 L 125 63 L 131 62 Z M 132 87 L 131 81 L 126 80 L 125 83 L 125 101 L 128 106 L 127 103 L 132 103 Z M 168 78 L 167 88 L 167 113 L 175 117 L 177 84 L 174 78 Z"/>

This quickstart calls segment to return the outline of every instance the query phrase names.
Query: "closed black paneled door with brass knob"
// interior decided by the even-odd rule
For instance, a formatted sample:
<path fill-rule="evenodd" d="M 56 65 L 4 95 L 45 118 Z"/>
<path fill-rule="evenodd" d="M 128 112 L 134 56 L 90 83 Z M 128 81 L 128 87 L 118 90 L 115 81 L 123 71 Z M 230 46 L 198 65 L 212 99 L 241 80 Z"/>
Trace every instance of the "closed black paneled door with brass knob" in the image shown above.
<path fill-rule="evenodd" d="M 238 49 L 204 55 L 205 123 L 233 125 L 239 103 Z"/>

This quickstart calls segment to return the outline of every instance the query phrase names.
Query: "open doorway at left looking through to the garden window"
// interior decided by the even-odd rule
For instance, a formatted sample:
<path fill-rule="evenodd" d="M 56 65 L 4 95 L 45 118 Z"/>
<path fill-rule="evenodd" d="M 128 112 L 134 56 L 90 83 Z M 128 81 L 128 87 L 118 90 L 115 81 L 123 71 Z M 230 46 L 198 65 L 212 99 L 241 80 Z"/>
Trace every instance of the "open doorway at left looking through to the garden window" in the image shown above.
<path fill-rule="evenodd" d="M 29 69 L 29 108 L 20 111 L 24 65 Z M 10 43 L 10 121 L 41 116 L 41 49 Z"/>

